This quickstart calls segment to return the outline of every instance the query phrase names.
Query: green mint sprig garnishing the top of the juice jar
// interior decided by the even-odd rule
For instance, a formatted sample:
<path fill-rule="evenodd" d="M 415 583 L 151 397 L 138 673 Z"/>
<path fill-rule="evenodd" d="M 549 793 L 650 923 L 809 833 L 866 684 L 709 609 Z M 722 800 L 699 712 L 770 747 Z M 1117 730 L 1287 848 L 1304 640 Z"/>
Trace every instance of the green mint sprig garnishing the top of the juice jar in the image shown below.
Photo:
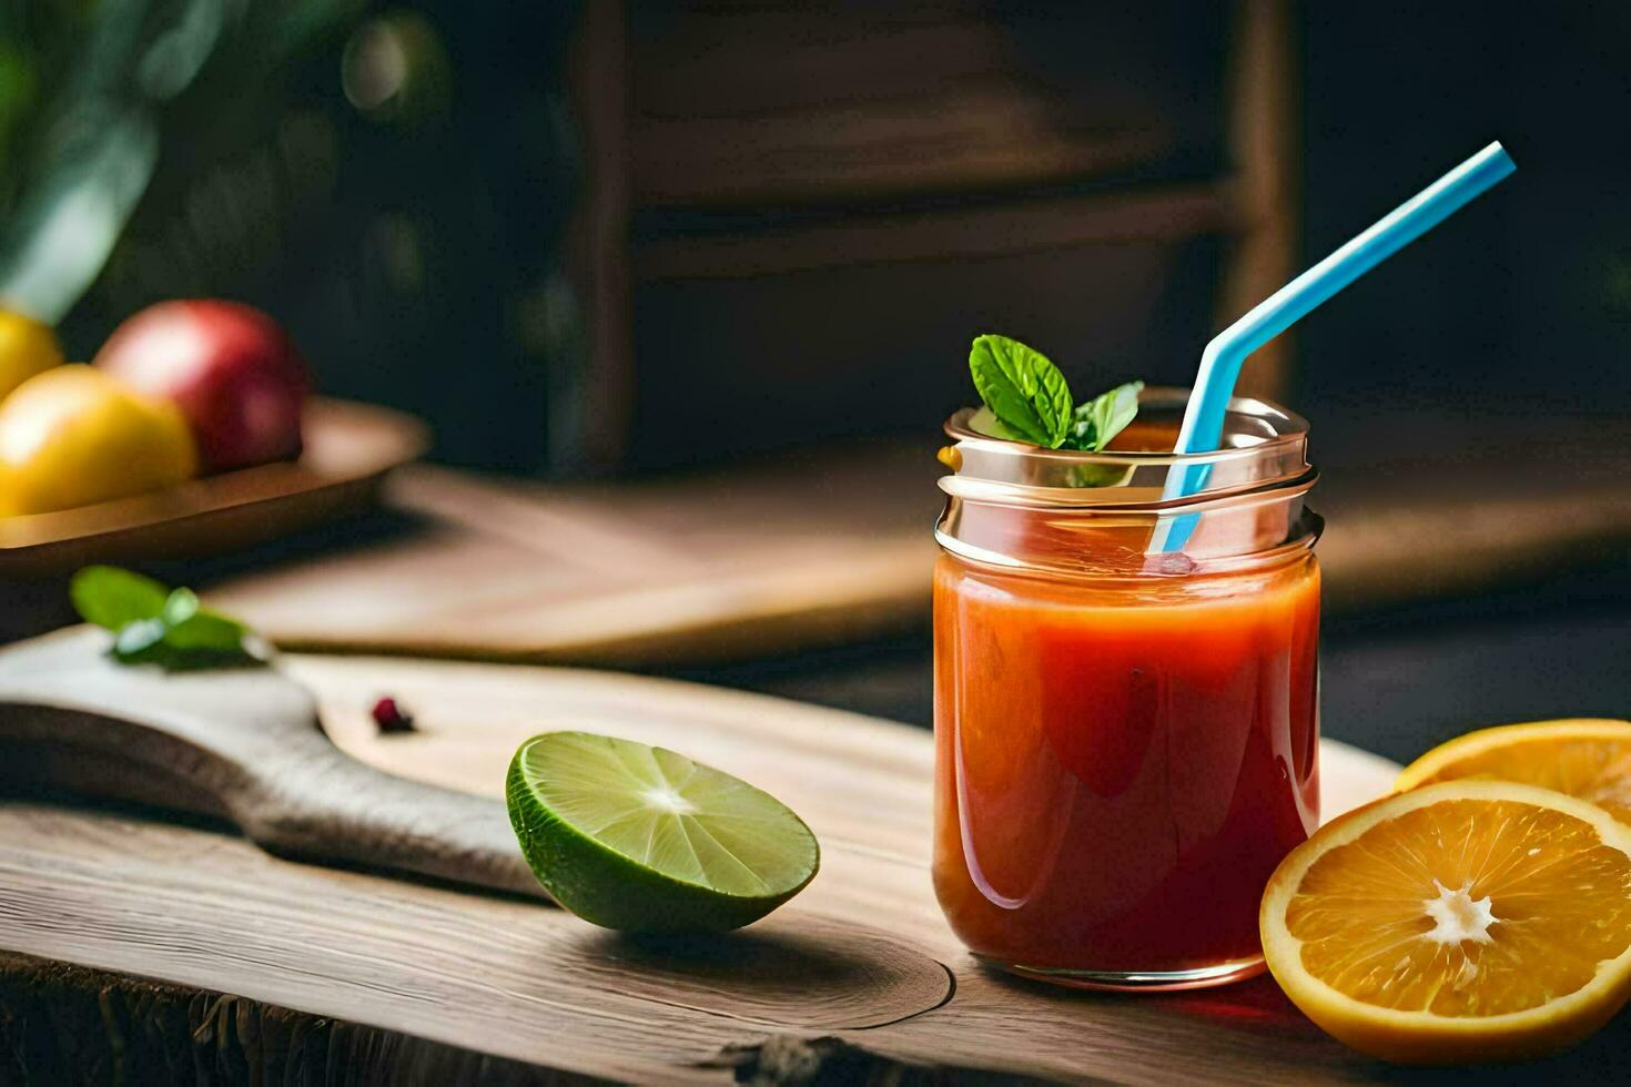
<path fill-rule="evenodd" d="M 974 388 L 990 409 L 995 437 L 1050 450 L 1101 451 L 1138 414 L 1143 381 L 1075 404 L 1070 385 L 1047 355 L 1006 336 L 977 336 L 969 349 Z"/>

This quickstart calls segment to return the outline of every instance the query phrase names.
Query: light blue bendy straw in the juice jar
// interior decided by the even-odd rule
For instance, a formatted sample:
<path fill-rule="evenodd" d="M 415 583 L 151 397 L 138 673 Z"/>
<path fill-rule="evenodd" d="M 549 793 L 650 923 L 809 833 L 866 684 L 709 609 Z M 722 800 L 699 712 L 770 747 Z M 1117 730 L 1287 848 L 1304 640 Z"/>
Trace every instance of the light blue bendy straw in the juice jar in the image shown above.
<path fill-rule="evenodd" d="M 1442 223 L 1458 207 L 1517 169 L 1499 142 L 1491 143 L 1430 186 L 1399 204 L 1341 249 L 1280 287 L 1246 316 L 1218 332 L 1200 354 L 1196 389 L 1184 411 L 1174 453 L 1209 453 L 1223 438 L 1223 412 L 1246 355 L 1258 350 L 1310 310 Z M 1166 477 L 1163 499 L 1182 499 L 1205 486 L 1210 464 L 1187 464 Z M 1196 530 L 1196 513 L 1163 517 L 1150 552 L 1179 551 Z"/>

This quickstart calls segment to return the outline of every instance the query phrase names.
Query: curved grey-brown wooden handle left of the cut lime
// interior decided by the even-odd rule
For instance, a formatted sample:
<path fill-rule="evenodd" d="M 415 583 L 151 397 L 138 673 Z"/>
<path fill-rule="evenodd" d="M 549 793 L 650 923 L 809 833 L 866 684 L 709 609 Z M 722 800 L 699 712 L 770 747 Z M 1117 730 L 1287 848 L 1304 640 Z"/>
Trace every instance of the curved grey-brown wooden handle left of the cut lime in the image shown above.
<path fill-rule="evenodd" d="M 83 627 L 0 650 L 0 777 L 199 812 L 269 852 L 545 896 L 504 805 L 339 751 L 276 668 L 109 662 Z"/>

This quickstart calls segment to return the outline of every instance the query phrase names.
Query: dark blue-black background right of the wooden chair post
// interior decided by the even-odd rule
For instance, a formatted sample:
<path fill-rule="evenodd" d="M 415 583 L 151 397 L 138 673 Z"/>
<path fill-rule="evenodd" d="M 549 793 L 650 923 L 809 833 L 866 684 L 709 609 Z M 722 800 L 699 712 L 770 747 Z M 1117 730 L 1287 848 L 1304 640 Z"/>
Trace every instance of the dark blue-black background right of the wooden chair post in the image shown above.
<path fill-rule="evenodd" d="M 1306 259 L 1486 139 L 1518 173 L 1308 318 L 1305 411 L 1624 419 L 1628 44 L 1621 5 L 1306 7 Z"/>

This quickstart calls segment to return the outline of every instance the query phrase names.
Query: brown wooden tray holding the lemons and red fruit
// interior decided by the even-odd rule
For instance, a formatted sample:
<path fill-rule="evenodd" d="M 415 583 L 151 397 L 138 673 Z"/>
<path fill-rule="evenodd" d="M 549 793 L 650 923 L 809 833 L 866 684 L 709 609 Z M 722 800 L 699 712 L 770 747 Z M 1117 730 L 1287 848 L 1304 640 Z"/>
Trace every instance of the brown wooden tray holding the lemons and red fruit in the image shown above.
<path fill-rule="evenodd" d="M 0 518 L 0 577 L 49 577 L 86 562 L 219 554 L 281 536 L 370 500 L 385 473 L 427 447 L 429 432 L 409 416 L 313 399 L 297 461 L 73 510 Z"/>

